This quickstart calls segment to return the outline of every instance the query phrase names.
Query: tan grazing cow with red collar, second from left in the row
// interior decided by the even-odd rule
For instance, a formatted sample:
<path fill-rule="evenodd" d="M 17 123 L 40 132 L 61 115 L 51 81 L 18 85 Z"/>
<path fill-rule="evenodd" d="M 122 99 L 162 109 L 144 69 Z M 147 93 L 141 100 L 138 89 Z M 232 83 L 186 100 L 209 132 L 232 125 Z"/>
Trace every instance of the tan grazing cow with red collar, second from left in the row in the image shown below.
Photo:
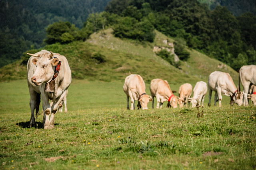
<path fill-rule="evenodd" d="M 156 108 L 162 108 L 162 104 L 165 101 L 168 101 L 170 106 L 173 108 L 177 108 L 177 96 L 174 96 L 170 86 L 166 80 L 162 80 L 160 78 L 153 79 L 150 83 L 150 92 L 152 96 L 152 108 L 154 109 L 154 97 L 156 97 L 157 105 Z"/>

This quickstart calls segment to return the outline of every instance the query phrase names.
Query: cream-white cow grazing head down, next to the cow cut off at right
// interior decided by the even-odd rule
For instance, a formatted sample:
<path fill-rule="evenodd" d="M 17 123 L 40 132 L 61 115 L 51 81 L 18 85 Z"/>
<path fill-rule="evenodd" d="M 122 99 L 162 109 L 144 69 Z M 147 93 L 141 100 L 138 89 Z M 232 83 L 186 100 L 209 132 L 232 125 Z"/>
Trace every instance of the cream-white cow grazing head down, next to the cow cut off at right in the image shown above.
<path fill-rule="evenodd" d="M 216 106 L 217 98 L 219 100 L 219 106 L 221 106 L 222 96 L 230 96 L 230 105 L 233 105 L 233 100 L 238 106 L 242 105 L 242 94 L 236 88 L 230 74 L 221 71 L 214 71 L 208 78 L 208 91 L 209 91 L 209 103 L 211 105 L 212 91 L 215 91 L 214 106 Z"/>

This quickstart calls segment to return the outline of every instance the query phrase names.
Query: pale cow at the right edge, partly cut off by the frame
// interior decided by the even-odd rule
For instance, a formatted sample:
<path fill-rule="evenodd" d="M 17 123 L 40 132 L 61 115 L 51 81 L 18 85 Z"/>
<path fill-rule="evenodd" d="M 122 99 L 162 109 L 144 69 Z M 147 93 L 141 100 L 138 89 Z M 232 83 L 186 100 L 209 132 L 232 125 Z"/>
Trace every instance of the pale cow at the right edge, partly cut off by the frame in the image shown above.
<path fill-rule="evenodd" d="M 247 101 L 247 94 L 249 92 L 250 84 L 256 85 L 256 65 L 248 65 L 242 66 L 239 70 L 239 84 L 238 89 L 240 90 L 240 81 L 242 86 L 244 87 L 243 90 L 243 104 L 244 106 L 248 106 Z"/>

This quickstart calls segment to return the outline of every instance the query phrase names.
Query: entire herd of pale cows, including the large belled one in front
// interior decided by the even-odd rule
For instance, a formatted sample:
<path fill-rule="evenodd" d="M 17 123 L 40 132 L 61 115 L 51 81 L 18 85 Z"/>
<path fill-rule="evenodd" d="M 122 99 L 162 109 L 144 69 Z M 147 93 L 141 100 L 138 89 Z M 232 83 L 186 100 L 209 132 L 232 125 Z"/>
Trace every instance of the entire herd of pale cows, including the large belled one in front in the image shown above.
<path fill-rule="evenodd" d="M 43 106 L 43 126 L 44 129 L 54 128 L 54 115 L 58 107 L 65 105 L 68 87 L 71 83 L 71 70 L 66 57 L 52 51 L 42 50 L 31 55 L 27 65 L 27 82 L 30 93 L 30 127 L 35 127 L 35 114 L 39 113 L 40 98 L 42 98 Z M 248 98 L 256 105 L 256 66 L 242 66 L 239 72 L 239 84 L 236 88 L 230 74 L 220 71 L 212 72 L 206 82 L 197 82 L 193 89 L 189 83 L 182 84 L 179 88 L 179 96 L 175 96 L 166 80 L 153 79 L 150 83 L 151 96 L 146 94 L 146 86 L 142 77 L 138 74 L 131 74 L 125 78 L 123 90 L 127 98 L 127 109 L 135 109 L 135 100 L 138 100 L 138 109 L 148 109 L 148 102 L 152 101 L 154 108 L 154 98 L 156 97 L 156 108 L 162 108 L 163 102 L 168 101 L 167 106 L 177 108 L 187 106 L 189 102 L 192 107 L 196 104 L 203 106 L 204 97 L 209 92 L 209 103 L 212 91 L 215 91 L 214 105 L 219 101 L 221 106 L 222 94 L 230 96 L 230 104 L 233 102 L 241 106 L 248 106 Z M 240 91 L 240 81 L 244 87 L 243 92 Z M 208 87 L 207 87 L 208 85 Z M 129 99 L 131 107 L 129 107 Z M 51 101 L 49 103 L 49 100 Z M 62 108 L 60 108 L 62 111 Z M 51 115 L 51 116 L 50 116 Z"/>

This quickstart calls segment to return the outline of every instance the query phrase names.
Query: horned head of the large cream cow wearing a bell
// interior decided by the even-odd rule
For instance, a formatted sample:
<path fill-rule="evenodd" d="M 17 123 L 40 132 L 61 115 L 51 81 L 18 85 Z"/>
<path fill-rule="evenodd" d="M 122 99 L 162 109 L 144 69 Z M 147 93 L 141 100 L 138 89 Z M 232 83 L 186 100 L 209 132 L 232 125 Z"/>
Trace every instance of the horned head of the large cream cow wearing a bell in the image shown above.
<path fill-rule="evenodd" d="M 52 51 L 41 55 L 27 54 L 38 57 L 32 59 L 32 63 L 36 65 L 36 70 L 31 77 L 31 81 L 37 86 L 50 82 L 54 75 L 54 68 L 59 63 L 59 60 L 53 57 Z"/>

